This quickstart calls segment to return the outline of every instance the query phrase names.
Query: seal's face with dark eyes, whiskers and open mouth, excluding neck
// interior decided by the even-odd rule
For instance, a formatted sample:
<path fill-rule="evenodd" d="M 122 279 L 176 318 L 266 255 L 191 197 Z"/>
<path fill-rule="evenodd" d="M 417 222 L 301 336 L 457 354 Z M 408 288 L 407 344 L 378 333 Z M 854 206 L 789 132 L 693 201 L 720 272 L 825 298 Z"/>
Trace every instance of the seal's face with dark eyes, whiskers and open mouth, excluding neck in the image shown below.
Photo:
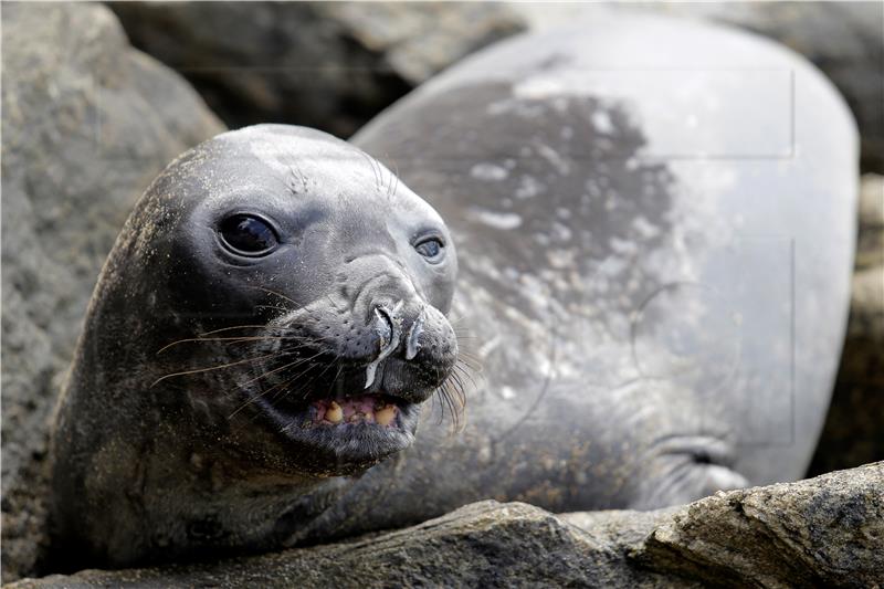
<path fill-rule="evenodd" d="M 233 411 L 294 444 L 298 466 L 341 474 L 407 448 L 418 404 L 452 370 L 456 259 L 428 204 L 318 135 L 263 126 L 215 140 L 211 167 L 229 180 L 171 232 L 186 266 L 171 290 L 211 332 L 186 344 L 221 343 L 227 364 L 248 366 Z M 245 320 L 215 327 L 217 309 Z"/>

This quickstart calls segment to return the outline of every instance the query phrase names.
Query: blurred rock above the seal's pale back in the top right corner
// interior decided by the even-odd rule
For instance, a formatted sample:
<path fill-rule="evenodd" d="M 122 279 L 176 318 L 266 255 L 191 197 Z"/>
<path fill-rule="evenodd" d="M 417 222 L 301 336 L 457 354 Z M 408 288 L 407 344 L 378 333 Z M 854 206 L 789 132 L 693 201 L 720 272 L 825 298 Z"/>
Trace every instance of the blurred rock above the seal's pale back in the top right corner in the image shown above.
<path fill-rule="evenodd" d="M 834 82 L 856 117 L 863 169 L 884 172 L 884 3 L 643 2 L 631 3 L 629 9 L 636 7 L 734 24 L 808 57 Z M 515 8 L 532 28 L 539 29 L 608 10 L 591 3 L 518 3 Z"/>

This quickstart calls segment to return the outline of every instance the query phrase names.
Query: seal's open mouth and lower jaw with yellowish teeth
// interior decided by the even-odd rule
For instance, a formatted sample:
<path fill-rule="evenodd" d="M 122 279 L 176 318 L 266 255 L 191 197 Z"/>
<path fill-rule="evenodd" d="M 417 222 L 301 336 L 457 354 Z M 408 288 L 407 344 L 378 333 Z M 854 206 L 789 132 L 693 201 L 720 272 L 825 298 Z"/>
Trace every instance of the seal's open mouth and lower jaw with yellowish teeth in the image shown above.
<path fill-rule="evenodd" d="M 406 450 L 420 414 L 419 403 L 373 392 L 260 409 L 287 442 L 308 450 L 306 466 L 319 475 L 349 474 Z"/>

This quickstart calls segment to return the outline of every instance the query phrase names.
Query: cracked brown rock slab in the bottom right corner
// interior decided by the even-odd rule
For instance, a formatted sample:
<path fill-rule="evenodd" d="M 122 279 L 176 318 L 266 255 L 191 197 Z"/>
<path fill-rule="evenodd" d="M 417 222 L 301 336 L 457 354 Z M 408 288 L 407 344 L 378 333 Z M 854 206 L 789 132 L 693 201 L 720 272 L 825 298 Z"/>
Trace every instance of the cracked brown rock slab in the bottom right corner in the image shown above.
<path fill-rule="evenodd" d="M 635 554 L 652 570 L 729 587 L 884 582 L 884 463 L 719 493 L 657 526 Z"/>

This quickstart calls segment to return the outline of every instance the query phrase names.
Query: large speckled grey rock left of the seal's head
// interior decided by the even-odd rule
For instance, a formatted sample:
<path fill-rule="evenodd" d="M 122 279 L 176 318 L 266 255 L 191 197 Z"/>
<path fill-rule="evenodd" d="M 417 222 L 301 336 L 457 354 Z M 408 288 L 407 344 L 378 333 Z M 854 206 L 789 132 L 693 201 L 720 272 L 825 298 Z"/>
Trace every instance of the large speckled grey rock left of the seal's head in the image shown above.
<path fill-rule="evenodd" d="M 101 6 L 3 7 L 3 579 L 29 572 L 48 417 L 129 208 L 175 156 L 223 130 Z"/>

